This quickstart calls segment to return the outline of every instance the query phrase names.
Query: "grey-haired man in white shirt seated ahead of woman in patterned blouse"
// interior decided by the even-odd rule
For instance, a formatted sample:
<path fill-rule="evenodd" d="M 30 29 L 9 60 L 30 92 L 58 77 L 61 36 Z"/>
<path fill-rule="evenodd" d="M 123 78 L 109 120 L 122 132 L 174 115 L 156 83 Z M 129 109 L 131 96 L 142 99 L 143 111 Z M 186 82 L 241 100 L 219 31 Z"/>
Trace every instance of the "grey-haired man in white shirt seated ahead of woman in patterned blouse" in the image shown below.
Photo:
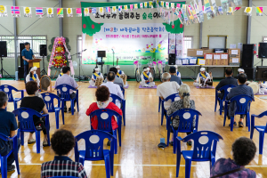
<path fill-rule="evenodd" d="M 163 83 L 158 85 L 157 87 L 157 96 L 161 98 L 161 100 L 166 99 L 168 96 L 178 93 L 178 90 L 180 88 L 180 85 L 178 85 L 177 82 L 170 82 L 171 75 L 167 72 L 162 74 L 162 81 Z M 176 100 L 179 100 L 180 98 L 177 97 Z M 164 108 L 167 110 L 170 108 L 172 104 L 172 101 L 165 101 L 164 102 Z"/>

